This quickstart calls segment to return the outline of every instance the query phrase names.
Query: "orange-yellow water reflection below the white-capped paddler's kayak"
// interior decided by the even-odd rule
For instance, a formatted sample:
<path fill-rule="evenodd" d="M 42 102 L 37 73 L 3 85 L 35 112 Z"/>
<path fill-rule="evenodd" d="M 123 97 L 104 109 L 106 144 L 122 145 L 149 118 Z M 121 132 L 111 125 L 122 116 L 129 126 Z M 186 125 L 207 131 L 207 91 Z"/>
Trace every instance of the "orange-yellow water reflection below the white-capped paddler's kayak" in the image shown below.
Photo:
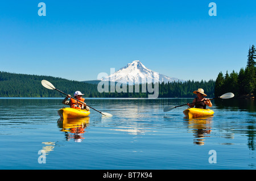
<path fill-rule="evenodd" d="M 88 127 L 90 117 L 80 119 L 62 119 L 57 121 L 60 131 L 65 133 L 65 140 L 81 142 L 84 139 L 85 128 Z"/>

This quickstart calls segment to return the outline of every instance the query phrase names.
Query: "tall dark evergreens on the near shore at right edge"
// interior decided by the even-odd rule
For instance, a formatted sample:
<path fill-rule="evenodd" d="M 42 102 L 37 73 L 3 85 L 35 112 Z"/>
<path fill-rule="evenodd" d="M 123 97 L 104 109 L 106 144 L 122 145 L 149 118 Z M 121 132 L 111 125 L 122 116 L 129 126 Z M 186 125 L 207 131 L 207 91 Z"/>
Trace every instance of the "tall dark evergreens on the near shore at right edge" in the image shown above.
<path fill-rule="evenodd" d="M 225 92 L 233 92 L 238 97 L 256 95 L 256 50 L 254 45 L 249 48 L 247 57 L 246 68 L 241 68 L 239 73 L 233 70 L 230 74 L 228 71 L 225 75 L 222 72 L 218 74 L 214 91 L 216 95 L 222 95 Z"/>

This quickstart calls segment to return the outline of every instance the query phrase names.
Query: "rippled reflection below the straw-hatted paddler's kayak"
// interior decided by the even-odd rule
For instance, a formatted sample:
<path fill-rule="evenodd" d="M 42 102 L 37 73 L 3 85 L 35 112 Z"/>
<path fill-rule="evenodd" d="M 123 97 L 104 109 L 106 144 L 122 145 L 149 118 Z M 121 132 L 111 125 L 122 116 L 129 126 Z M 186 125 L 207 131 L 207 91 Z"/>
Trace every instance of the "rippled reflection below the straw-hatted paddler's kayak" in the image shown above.
<path fill-rule="evenodd" d="M 213 116 L 209 117 L 199 117 L 194 119 L 187 119 L 184 117 L 184 120 L 187 123 L 187 127 L 193 133 L 195 139 L 193 143 L 195 145 L 204 145 L 205 138 L 210 137 L 208 134 L 212 131 L 212 119 Z"/>

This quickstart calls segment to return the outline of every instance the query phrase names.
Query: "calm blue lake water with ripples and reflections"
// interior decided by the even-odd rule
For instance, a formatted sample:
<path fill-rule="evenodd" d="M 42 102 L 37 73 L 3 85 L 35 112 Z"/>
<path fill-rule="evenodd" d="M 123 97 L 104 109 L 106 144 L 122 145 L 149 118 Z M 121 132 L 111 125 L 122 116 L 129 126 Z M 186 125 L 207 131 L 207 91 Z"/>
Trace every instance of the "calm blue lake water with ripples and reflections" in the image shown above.
<path fill-rule="evenodd" d="M 113 117 L 63 121 L 62 99 L 0 99 L 0 169 L 256 169 L 254 100 L 216 100 L 214 116 L 186 119 L 187 106 L 163 108 L 192 99 L 88 98 Z"/>

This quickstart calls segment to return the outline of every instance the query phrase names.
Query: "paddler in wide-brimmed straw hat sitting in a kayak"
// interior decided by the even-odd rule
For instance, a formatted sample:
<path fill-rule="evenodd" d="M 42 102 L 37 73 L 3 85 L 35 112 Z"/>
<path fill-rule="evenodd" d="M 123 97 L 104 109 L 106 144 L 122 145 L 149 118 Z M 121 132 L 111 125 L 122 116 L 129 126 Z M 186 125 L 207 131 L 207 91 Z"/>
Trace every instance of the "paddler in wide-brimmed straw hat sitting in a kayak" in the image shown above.
<path fill-rule="evenodd" d="M 195 98 L 193 100 L 192 104 L 187 103 L 187 105 L 189 107 L 196 107 L 196 108 L 201 108 L 201 109 L 206 109 L 206 106 L 212 107 L 212 102 L 210 102 L 210 99 L 206 99 L 204 98 L 204 96 L 207 96 L 206 94 L 204 94 L 204 90 L 203 89 L 197 89 L 196 91 L 193 91 L 194 94 L 197 95 L 197 98 Z M 200 102 L 203 101 L 204 102 Z"/>

